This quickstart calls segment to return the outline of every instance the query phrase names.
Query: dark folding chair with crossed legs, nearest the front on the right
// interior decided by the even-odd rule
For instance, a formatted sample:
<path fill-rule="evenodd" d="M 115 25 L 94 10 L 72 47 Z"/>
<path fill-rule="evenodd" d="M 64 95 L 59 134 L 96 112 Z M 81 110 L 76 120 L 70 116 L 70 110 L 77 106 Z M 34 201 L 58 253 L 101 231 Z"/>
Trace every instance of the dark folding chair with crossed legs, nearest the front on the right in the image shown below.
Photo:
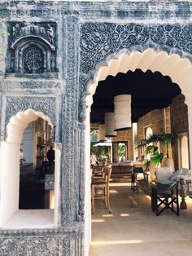
<path fill-rule="evenodd" d="M 169 209 L 179 216 L 178 182 L 155 183 L 152 187 L 153 211 L 159 216 L 164 210 Z"/>

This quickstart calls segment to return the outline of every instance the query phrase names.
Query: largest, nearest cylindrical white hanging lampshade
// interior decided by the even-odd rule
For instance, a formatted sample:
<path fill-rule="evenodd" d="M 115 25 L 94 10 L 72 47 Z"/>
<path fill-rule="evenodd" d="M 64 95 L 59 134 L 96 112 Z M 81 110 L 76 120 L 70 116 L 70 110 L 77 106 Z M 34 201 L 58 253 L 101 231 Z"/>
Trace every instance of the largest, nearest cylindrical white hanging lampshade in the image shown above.
<path fill-rule="evenodd" d="M 131 128 L 131 95 L 117 95 L 114 97 L 115 130 Z"/>

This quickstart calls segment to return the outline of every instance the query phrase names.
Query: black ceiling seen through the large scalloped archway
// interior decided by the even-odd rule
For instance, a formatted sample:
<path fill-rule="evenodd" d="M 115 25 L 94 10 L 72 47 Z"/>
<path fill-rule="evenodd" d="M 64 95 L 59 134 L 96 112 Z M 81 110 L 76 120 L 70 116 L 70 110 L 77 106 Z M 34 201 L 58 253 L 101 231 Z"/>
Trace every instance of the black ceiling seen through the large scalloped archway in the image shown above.
<path fill-rule="evenodd" d="M 118 73 L 116 77 L 108 76 L 98 82 L 91 106 L 90 121 L 104 122 L 104 114 L 114 112 L 113 98 L 116 95 L 132 95 L 132 121 L 155 108 L 165 108 L 172 103 L 172 98 L 181 94 L 181 89 L 171 78 L 159 72 L 152 73 L 141 69 L 134 72 Z"/>

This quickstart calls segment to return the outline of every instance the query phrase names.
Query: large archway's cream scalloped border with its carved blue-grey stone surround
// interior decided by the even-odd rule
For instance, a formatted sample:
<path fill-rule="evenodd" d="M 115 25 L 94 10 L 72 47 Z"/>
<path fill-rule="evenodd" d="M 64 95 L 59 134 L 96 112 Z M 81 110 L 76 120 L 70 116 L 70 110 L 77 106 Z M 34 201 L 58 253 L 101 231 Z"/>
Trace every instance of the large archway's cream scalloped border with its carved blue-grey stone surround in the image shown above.
<path fill-rule="evenodd" d="M 130 26 L 130 31 L 126 31 Z M 79 119 L 85 121 L 86 127 L 85 156 L 89 157 L 89 143 L 87 143 L 89 139 L 86 134 L 89 134 L 89 111 L 98 82 L 105 80 L 108 75 L 116 76 L 119 72 L 126 73 L 129 70 L 141 68 L 143 72 L 151 69 L 152 72 L 159 71 L 164 76 L 171 77 L 172 82 L 176 82 L 182 94 L 185 95 L 185 104 L 188 105 L 189 130 L 192 128 L 191 29 L 190 25 L 170 24 L 160 26 L 84 24 L 81 27 L 81 112 Z M 184 38 L 188 38 L 185 44 Z M 124 40 L 129 43 L 123 45 Z M 192 148 L 191 133 L 190 148 Z M 192 162 L 192 153 L 190 153 L 190 162 Z M 89 170 L 85 171 L 86 175 L 89 175 Z"/>

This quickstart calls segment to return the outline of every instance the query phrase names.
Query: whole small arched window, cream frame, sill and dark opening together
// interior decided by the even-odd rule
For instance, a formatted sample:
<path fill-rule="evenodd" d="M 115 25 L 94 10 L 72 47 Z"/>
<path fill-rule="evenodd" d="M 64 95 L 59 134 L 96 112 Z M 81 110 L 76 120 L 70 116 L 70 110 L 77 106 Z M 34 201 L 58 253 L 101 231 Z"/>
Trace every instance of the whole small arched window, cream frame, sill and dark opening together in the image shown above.
<path fill-rule="evenodd" d="M 33 109 L 11 117 L 0 147 L 0 229 L 58 225 L 60 147 L 52 129 L 50 118 Z"/>

